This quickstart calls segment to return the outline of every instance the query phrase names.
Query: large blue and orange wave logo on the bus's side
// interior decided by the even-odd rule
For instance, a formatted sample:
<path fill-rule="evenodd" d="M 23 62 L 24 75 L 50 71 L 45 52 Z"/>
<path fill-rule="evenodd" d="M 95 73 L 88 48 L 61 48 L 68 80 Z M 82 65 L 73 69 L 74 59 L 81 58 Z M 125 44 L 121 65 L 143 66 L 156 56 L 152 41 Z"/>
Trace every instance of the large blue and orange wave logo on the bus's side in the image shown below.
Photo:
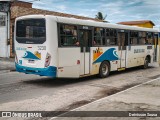
<path fill-rule="evenodd" d="M 95 53 L 95 51 L 93 51 L 94 52 L 93 53 L 93 61 L 94 61 L 93 64 L 103 62 L 104 60 L 113 61 L 113 60 L 119 59 L 115 48 L 110 48 L 104 53 L 103 53 L 103 50 L 101 50 L 101 48 L 98 48 L 98 49 L 100 50 L 100 53 L 98 54 Z"/>

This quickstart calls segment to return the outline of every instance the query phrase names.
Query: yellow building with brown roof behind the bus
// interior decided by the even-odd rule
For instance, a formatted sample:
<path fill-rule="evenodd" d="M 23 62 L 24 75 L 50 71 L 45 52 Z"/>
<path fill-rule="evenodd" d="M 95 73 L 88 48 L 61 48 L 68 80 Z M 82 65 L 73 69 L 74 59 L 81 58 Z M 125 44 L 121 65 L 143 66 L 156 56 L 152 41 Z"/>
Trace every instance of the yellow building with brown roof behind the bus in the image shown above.
<path fill-rule="evenodd" d="M 117 24 L 139 26 L 139 27 L 146 27 L 146 28 L 153 28 L 155 26 L 155 24 L 150 20 L 126 21 L 126 22 L 119 22 Z"/>

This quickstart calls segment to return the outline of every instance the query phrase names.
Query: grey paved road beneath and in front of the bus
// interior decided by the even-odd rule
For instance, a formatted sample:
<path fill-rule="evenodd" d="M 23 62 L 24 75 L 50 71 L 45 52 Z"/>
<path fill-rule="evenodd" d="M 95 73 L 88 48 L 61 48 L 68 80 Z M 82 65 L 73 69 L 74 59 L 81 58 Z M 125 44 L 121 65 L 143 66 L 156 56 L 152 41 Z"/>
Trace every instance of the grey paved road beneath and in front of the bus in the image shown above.
<path fill-rule="evenodd" d="M 0 74 L 0 111 L 70 110 L 160 76 L 159 67 L 112 72 L 108 78 L 52 79 Z"/>

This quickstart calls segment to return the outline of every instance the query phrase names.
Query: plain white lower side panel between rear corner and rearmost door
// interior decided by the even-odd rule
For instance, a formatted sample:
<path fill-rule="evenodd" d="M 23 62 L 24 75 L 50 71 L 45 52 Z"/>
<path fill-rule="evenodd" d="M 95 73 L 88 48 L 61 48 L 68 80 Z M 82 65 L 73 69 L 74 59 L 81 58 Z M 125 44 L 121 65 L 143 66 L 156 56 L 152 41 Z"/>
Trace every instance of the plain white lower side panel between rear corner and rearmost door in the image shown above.
<path fill-rule="evenodd" d="M 57 77 L 78 78 L 80 76 L 80 48 L 58 48 Z"/>

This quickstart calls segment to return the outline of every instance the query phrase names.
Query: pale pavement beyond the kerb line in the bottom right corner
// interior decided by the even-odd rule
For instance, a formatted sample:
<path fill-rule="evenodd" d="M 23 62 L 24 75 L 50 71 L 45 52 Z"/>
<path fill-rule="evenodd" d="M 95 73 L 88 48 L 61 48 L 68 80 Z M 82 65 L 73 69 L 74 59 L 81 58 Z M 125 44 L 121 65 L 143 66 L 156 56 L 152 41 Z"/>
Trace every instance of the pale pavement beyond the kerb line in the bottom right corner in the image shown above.
<path fill-rule="evenodd" d="M 160 77 L 65 112 L 50 120 L 159 120 L 159 91 Z"/>

